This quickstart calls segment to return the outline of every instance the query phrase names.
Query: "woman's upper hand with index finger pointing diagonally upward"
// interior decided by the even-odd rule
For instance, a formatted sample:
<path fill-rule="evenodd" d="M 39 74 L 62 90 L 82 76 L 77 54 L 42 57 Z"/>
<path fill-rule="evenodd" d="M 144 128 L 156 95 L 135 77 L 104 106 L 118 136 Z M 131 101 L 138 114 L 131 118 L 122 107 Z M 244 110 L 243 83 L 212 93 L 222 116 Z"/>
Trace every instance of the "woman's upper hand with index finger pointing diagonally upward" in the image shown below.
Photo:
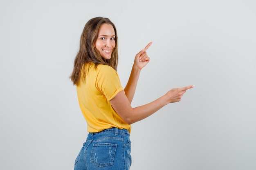
<path fill-rule="evenodd" d="M 146 66 L 150 60 L 150 58 L 148 57 L 148 55 L 146 53 L 146 50 L 150 47 L 151 44 L 152 44 L 152 42 L 148 43 L 148 45 L 144 49 L 139 51 L 139 53 L 137 53 L 135 56 L 134 66 L 137 66 L 140 70 L 144 66 Z"/>

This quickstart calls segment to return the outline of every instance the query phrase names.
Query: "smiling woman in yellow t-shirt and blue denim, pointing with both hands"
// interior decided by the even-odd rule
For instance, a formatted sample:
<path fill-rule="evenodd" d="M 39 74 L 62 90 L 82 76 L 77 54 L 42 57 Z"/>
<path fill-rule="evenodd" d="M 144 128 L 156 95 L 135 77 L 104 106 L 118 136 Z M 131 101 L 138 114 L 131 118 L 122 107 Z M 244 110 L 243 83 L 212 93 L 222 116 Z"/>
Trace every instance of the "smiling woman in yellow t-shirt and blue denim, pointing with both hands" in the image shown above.
<path fill-rule="evenodd" d="M 193 87 L 173 88 L 151 103 L 132 108 L 140 71 L 150 60 L 146 50 L 152 42 L 136 54 L 125 88 L 116 72 L 117 44 L 117 29 L 108 18 L 92 18 L 85 24 L 70 78 L 76 85 L 89 134 L 74 170 L 129 170 L 130 125 L 166 104 L 179 102 Z"/>

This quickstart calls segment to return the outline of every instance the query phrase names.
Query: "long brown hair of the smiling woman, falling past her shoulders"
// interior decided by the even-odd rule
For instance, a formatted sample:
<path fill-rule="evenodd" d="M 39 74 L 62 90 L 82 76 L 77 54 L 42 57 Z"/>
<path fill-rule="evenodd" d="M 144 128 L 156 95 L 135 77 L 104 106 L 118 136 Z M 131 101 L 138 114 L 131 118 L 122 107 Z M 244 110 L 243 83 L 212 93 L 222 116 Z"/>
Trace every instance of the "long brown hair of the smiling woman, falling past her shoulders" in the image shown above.
<path fill-rule="evenodd" d="M 112 56 L 109 60 L 101 57 L 99 52 L 94 46 L 94 42 L 97 39 L 99 28 L 102 24 L 110 24 L 115 30 L 115 42 L 116 46 L 112 52 Z M 105 64 L 112 66 L 117 70 L 118 64 L 118 39 L 117 39 L 117 29 L 115 24 L 113 24 L 108 18 L 96 17 L 90 19 L 84 26 L 81 39 L 80 39 L 80 48 L 74 60 L 74 69 L 70 75 L 70 79 L 74 85 L 79 85 L 80 79 L 85 82 L 85 76 L 89 70 L 89 67 L 85 69 L 87 63 L 94 63 L 95 67 L 99 64 Z M 83 73 L 82 73 L 83 71 Z M 82 76 L 83 75 L 83 76 Z"/>

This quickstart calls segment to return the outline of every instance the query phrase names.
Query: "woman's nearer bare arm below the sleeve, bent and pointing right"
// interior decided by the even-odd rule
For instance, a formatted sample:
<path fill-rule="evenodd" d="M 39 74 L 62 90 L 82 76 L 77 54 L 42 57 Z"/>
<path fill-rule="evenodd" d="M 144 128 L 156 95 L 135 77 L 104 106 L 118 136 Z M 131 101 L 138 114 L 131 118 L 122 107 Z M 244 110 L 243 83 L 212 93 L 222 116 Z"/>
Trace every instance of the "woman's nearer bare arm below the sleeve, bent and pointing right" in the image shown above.
<path fill-rule="evenodd" d="M 155 101 L 135 108 L 131 107 L 124 91 L 121 91 L 110 100 L 110 104 L 127 124 L 133 124 L 152 115 L 166 104 L 179 102 L 186 90 L 193 87 L 191 85 L 183 88 L 173 88 Z"/>

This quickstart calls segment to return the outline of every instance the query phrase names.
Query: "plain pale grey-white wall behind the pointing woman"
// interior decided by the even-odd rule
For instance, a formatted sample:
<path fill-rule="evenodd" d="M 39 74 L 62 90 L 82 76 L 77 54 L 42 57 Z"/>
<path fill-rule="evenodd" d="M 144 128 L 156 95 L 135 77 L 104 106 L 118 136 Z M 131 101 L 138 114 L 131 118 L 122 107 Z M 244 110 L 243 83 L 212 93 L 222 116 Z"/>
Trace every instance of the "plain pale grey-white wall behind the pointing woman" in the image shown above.
<path fill-rule="evenodd" d="M 194 84 L 132 125 L 131 170 L 256 169 L 255 0 L 1 0 L 0 169 L 71 170 L 87 136 L 68 78 L 85 23 L 110 18 L 132 106 Z"/>

